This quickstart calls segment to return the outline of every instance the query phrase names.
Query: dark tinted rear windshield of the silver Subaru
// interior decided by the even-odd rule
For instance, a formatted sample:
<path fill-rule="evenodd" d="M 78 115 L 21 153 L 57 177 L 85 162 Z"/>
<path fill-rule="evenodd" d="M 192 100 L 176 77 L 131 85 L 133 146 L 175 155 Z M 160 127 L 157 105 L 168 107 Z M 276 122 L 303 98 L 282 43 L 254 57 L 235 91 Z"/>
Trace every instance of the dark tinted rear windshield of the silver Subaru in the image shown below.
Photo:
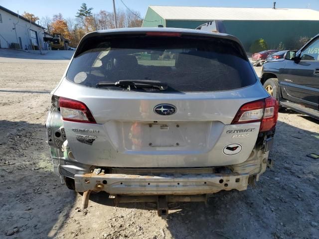
<path fill-rule="evenodd" d="M 226 91 L 256 82 L 249 64 L 242 47 L 227 39 L 98 36 L 80 45 L 66 77 L 77 84 L 94 88 L 101 82 L 151 80 L 167 84 L 164 92 Z M 128 90 L 113 86 L 102 89 Z"/>

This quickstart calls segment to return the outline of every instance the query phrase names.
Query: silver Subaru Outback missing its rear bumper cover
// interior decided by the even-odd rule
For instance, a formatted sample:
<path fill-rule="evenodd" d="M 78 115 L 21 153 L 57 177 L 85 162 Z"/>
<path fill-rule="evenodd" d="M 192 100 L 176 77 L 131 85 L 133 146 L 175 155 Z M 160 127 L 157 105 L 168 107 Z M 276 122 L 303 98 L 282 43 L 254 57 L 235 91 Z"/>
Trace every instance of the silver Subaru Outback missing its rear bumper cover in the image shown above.
<path fill-rule="evenodd" d="M 268 159 L 278 103 L 240 41 L 178 28 L 83 37 L 46 119 L 54 172 L 66 186 L 121 202 L 205 201 L 246 190 Z"/>

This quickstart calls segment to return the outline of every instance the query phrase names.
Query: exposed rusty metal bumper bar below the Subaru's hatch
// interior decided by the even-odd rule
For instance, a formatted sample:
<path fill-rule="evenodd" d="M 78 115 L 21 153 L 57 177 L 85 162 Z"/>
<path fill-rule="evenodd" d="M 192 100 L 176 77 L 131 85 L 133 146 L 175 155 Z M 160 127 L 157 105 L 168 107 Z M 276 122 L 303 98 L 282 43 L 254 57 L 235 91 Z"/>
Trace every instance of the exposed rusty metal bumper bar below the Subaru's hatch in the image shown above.
<path fill-rule="evenodd" d="M 76 174 L 77 192 L 105 191 L 112 195 L 194 195 L 221 190 L 246 190 L 249 174 Z"/>

